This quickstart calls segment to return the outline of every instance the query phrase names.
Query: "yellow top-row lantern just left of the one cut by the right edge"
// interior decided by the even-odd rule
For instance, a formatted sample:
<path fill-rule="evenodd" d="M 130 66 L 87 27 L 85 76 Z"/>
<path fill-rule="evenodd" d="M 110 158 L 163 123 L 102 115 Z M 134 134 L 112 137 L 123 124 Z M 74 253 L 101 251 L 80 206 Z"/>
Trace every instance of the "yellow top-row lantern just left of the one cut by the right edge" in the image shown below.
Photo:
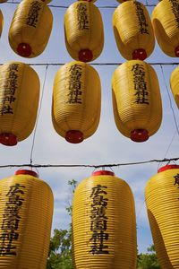
<path fill-rule="evenodd" d="M 120 4 L 113 15 L 117 48 L 127 60 L 144 60 L 155 47 L 155 38 L 148 10 L 137 1 Z"/>

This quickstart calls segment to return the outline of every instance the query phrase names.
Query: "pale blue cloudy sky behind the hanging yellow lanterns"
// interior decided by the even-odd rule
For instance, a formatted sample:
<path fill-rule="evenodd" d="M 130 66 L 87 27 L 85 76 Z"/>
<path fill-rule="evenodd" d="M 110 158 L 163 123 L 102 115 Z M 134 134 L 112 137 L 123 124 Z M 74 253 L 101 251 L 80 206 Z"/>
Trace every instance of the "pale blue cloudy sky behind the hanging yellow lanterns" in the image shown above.
<path fill-rule="evenodd" d="M 30 158 L 32 159 L 32 164 L 38 165 L 56 164 L 70 166 L 82 164 L 102 166 L 103 164 L 125 164 L 178 157 L 179 137 L 176 132 L 175 119 L 178 122 L 179 115 L 169 85 L 170 75 L 175 69 L 178 59 L 166 56 L 158 47 L 157 41 L 152 55 L 146 59 L 146 62 L 149 64 L 168 64 L 152 65 L 158 75 L 160 86 L 163 106 L 162 124 L 158 132 L 149 137 L 149 140 L 145 143 L 132 142 L 129 138 L 120 134 L 115 126 L 111 79 L 117 66 L 126 61 L 116 47 L 113 33 L 112 16 L 115 12 L 114 6 L 118 5 L 115 0 L 98 0 L 96 2 L 96 5 L 100 7 L 99 10 L 103 18 L 105 31 L 104 49 L 101 55 L 94 62 L 90 63 L 97 70 L 101 82 L 101 117 L 98 130 L 90 138 L 79 144 L 67 143 L 63 137 L 55 133 L 51 120 L 52 91 L 55 73 L 60 68 L 59 64 L 72 61 L 72 57 L 68 54 L 64 44 L 64 13 L 66 8 L 59 7 L 59 5 L 69 6 L 73 2 L 71 0 L 53 0 L 48 4 L 54 17 L 53 30 L 45 51 L 40 56 L 31 59 L 17 56 L 8 43 L 8 30 L 13 13 L 17 7 L 17 2 L 9 0 L 7 3 L 0 4 L 1 11 L 4 15 L 4 29 L 0 39 L 0 64 L 8 61 L 20 61 L 30 65 L 32 64 L 31 67 L 37 71 L 41 85 L 41 105 L 38 108 L 36 132 L 30 134 L 26 140 L 21 141 L 16 146 L 6 147 L 0 145 L 0 166 L 29 164 Z M 141 3 L 152 5 L 158 4 L 158 1 L 141 0 Z M 104 6 L 106 8 L 102 8 Z M 107 6 L 114 8 L 107 8 Z M 151 13 L 154 6 L 147 6 L 147 8 L 149 13 Z M 95 63 L 116 63 L 116 65 L 93 65 Z M 175 63 L 175 65 L 170 65 L 170 63 Z M 48 65 L 45 80 L 47 64 L 58 65 Z M 175 113 L 175 119 L 173 111 Z M 149 178 L 155 175 L 158 168 L 165 164 L 166 162 L 162 164 L 151 162 L 136 165 L 120 165 L 112 168 L 115 176 L 123 178 L 132 188 L 137 218 L 137 244 L 139 252 L 146 252 L 147 247 L 152 244 L 145 207 L 144 189 Z M 1 168 L 0 177 L 9 177 L 17 169 L 20 168 Z M 55 204 L 52 230 L 66 229 L 71 221 L 65 210 L 72 199 L 71 188 L 67 184 L 68 181 L 75 179 L 80 183 L 84 178 L 89 178 L 93 171 L 94 168 L 91 167 L 38 168 L 39 178 L 46 181 L 54 193 Z"/>

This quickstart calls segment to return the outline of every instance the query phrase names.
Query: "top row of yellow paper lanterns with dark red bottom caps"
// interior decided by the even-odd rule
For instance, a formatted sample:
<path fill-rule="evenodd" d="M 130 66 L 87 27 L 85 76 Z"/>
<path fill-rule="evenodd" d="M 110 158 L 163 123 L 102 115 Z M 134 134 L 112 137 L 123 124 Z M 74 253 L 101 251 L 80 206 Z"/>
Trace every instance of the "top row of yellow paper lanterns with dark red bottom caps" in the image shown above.
<path fill-rule="evenodd" d="M 53 26 L 49 2 L 23 0 L 18 4 L 9 30 L 9 43 L 15 53 L 34 57 L 47 47 Z M 102 17 L 93 2 L 76 1 L 64 14 L 66 48 L 73 59 L 82 62 L 96 59 L 104 46 Z M 154 33 L 166 55 L 179 56 L 175 0 L 158 3 L 151 21 L 144 4 L 135 0 L 118 2 L 122 4 L 115 9 L 113 27 L 117 48 L 124 58 L 144 60 L 148 57 L 155 47 Z"/>

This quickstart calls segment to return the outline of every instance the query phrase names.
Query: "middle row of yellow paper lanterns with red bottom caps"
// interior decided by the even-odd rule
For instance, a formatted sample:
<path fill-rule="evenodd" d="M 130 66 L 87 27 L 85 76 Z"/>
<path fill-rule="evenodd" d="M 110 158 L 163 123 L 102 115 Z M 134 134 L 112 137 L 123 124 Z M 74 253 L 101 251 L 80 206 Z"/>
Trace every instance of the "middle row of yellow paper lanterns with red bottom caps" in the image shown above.
<path fill-rule="evenodd" d="M 20 62 L 8 62 L 0 69 L 0 143 L 15 145 L 26 139 L 35 126 L 39 79 L 30 65 Z M 177 67 L 170 79 L 176 103 L 178 73 Z M 115 125 L 121 134 L 143 142 L 158 131 L 162 102 L 157 74 L 149 64 L 131 60 L 117 67 L 112 77 L 112 97 Z M 52 96 L 56 133 L 70 143 L 81 143 L 96 132 L 100 109 L 98 72 L 81 61 L 62 66 L 55 74 Z"/>

